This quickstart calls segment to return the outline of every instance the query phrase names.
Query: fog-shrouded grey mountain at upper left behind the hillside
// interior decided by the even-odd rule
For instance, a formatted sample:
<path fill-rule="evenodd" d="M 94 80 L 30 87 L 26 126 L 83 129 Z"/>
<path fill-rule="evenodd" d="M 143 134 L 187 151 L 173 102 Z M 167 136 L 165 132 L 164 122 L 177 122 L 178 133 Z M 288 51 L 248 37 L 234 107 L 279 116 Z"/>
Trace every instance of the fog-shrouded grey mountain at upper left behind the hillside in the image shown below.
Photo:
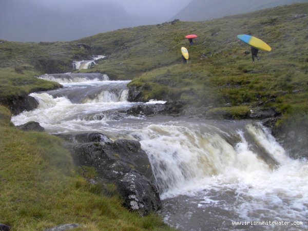
<path fill-rule="evenodd" d="M 52 9 L 32 1 L 1 0 L 0 38 L 18 42 L 72 41 L 119 28 L 157 20 L 128 14 L 113 3 Z"/>

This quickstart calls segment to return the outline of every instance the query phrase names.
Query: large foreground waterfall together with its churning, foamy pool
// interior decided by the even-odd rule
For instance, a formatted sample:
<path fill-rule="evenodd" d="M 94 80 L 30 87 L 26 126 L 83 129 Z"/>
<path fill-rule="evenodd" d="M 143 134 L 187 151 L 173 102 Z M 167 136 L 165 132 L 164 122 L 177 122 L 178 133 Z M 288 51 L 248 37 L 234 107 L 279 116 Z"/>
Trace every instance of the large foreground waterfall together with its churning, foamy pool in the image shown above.
<path fill-rule="evenodd" d="M 168 203 L 162 212 L 167 223 L 195 230 L 192 227 L 195 219 L 200 223 L 200 213 L 218 209 L 220 214 L 230 214 L 230 220 L 306 221 L 306 160 L 289 158 L 261 124 L 248 123 L 239 130 L 229 130 L 227 137 L 224 131 L 207 130 L 207 126 L 155 124 L 133 134 L 148 153 L 161 197 Z M 255 143 L 249 143 L 251 140 Z M 254 145 L 260 147 L 257 150 L 266 150 L 267 157 L 255 152 Z M 266 158 L 279 165 L 268 165 Z M 182 198 L 180 202 L 178 198 Z M 191 211 L 187 217 L 190 222 L 182 222 L 187 215 L 183 207 L 186 213 Z M 218 214 L 206 216 L 209 220 L 226 219 Z M 202 222 L 206 226 L 206 220 Z M 232 228 L 231 222 L 228 225 Z"/>

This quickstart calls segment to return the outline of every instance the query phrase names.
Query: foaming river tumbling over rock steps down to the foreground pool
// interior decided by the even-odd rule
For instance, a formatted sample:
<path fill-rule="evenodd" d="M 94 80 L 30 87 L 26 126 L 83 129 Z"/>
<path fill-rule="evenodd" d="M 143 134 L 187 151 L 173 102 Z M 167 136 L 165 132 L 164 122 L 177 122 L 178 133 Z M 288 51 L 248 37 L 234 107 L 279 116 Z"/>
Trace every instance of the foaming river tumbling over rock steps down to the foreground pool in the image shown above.
<path fill-rule="evenodd" d="M 160 190 L 159 213 L 171 226 L 308 229 L 307 161 L 289 158 L 256 121 L 133 117 L 123 112 L 138 104 L 127 102 L 129 81 L 109 81 L 96 73 L 41 78 L 64 88 L 30 94 L 38 108 L 14 116 L 12 122 L 37 121 L 49 133 L 96 131 L 112 140 L 138 140 Z"/>

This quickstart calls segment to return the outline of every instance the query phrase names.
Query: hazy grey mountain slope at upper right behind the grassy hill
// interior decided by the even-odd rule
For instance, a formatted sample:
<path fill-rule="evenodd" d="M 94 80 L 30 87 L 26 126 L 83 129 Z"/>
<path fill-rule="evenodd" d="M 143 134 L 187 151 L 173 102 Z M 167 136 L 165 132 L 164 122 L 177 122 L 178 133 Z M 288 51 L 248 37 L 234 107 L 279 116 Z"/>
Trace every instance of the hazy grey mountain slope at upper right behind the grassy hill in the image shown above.
<path fill-rule="evenodd" d="M 181 21 L 204 21 L 227 15 L 303 2 L 308 2 L 308 0 L 192 0 L 187 7 L 172 19 L 179 18 Z"/>

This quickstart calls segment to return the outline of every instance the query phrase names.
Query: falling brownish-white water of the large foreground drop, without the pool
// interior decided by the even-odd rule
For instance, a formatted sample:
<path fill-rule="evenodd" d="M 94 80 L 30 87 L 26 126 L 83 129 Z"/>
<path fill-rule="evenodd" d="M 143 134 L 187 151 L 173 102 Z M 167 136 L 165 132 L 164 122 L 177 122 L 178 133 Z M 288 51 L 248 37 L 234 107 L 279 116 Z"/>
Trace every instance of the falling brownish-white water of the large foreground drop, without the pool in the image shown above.
<path fill-rule="evenodd" d="M 150 125 L 137 133 L 142 148 L 148 153 L 163 198 L 194 191 L 193 188 L 205 182 L 217 180 L 217 176 L 224 176 L 223 182 L 233 182 L 241 175 L 271 174 L 272 167 L 264 156 L 251 148 L 255 144 L 245 139 L 249 133 L 260 141 L 257 145 L 261 150 L 270 149 L 267 158 L 274 157 L 279 163 L 289 159 L 261 125 L 249 124 L 241 131 L 229 133 L 228 136 L 233 137 L 228 139 L 221 130 L 207 131 L 204 125 L 201 128 Z"/>

